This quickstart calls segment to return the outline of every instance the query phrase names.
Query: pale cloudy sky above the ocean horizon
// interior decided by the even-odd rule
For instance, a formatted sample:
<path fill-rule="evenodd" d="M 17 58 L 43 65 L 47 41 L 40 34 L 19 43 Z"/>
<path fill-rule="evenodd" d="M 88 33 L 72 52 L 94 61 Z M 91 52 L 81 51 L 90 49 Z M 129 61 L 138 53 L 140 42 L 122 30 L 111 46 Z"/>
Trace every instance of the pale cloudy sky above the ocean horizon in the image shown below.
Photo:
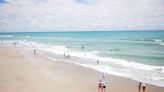
<path fill-rule="evenodd" d="M 0 32 L 164 30 L 164 0 L 0 0 Z"/>

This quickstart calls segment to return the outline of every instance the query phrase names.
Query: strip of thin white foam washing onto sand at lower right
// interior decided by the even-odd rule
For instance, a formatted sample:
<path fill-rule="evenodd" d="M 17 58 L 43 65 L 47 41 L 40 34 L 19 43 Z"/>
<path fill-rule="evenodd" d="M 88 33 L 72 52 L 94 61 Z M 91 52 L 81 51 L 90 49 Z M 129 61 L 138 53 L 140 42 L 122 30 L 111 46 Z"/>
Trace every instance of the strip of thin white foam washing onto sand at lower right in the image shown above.
<path fill-rule="evenodd" d="M 152 85 L 158 85 L 164 87 L 164 77 L 161 76 L 152 76 L 152 74 L 147 74 L 146 72 L 142 72 L 141 74 L 136 74 L 135 70 L 130 70 L 130 69 L 125 69 L 125 68 L 114 68 L 114 67 L 109 67 L 105 65 L 88 65 L 88 64 L 79 64 L 83 67 L 88 67 L 91 69 L 94 69 L 96 71 L 100 71 L 103 73 L 111 74 L 111 75 L 116 75 L 120 77 L 127 77 L 131 78 L 136 81 L 142 81 L 145 83 L 149 83 Z"/>

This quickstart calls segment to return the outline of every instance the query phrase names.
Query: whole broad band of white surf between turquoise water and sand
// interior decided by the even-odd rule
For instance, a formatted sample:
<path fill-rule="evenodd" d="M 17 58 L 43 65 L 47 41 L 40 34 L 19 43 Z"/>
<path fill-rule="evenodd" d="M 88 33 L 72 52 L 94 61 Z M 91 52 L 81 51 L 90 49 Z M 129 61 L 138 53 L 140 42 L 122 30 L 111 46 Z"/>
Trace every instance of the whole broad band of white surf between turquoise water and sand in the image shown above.
<path fill-rule="evenodd" d="M 7 46 L 10 47 L 11 45 L 14 46 L 13 44 L 7 43 Z M 63 54 L 66 52 L 66 55 L 68 54 L 71 56 L 69 60 L 73 63 L 79 63 L 81 65 L 85 65 L 85 67 L 90 67 L 91 69 L 105 72 L 107 74 L 123 76 L 133 80 L 143 81 L 145 83 L 149 83 L 152 85 L 164 87 L 164 81 L 162 80 L 164 67 L 162 65 L 159 66 L 149 65 L 149 64 L 144 64 L 142 62 L 137 62 L 135 60 L 128 61 L 128 59 L 114 58 L 112 56 L 102 57 L 96 54 L 97 53 L 96 50 L 95 52 L 91 51 L 88 54 L 86 53 L 87 51 L 83 52 L 81 51 L 81 49 L 73 50 L 70 48 L 66 48 L 65 46 L 62 45 L 58 46 L 52 44 L 44 44 L 44 43 L 42 44 L 42 43 L 37 43 L 37 41 L 36 44 L 35 41 L 27 41 L 27 42 L 20 41 L 20 43 L 17 46 L 18 48 L 25 48 L 31 50 L 33 50 L 33 48 L 35 47 L 37 49 L 37 52 L 40 51 L 40 53 L 43 53 L 43 55 L 50 56 L 57 60 L 62 60 Z M 99 65 L 97 66 L 95 64 L 96 60 L 101 61 L 100 66 Z M 153 76 L 152 73 L 154 74 Z"/>

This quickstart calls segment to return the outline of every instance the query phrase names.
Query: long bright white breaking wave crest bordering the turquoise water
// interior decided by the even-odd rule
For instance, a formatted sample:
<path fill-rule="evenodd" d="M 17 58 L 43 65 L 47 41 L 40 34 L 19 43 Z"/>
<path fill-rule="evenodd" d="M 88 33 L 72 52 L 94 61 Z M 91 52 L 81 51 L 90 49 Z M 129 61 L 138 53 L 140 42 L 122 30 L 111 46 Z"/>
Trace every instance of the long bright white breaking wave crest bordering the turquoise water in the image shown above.
<path fill-rule="evenodd" d="M 116 59 L 116 58 L 110 58 L 110 57 L 100 57 L 97 55 L 98 51 L 90 51 L 90 52 L 82 52 L 82 51 L 75 51 L 75 50 L 69 50 L 65 48 L 64 46 L 49 46 L 48 48 L 44 49 L 46 51 L 52 52 L 54 54 L 60 54 L 63 55 L 69 54 L 74 57 L 84 58 L 84 59 L 94 59 L 99 60 L 101 62 L 111 62 L 117 65 L 120 65 L 122 67 L 129 67 L 133 69 L 141 69 L 141 70 L 156 70 L 163 68 L 163 66 L 152 66 L 152 65 L 146 65 L 142 63 L 136 63 L 134 61 L 127 61 L 123 59 Z"/>

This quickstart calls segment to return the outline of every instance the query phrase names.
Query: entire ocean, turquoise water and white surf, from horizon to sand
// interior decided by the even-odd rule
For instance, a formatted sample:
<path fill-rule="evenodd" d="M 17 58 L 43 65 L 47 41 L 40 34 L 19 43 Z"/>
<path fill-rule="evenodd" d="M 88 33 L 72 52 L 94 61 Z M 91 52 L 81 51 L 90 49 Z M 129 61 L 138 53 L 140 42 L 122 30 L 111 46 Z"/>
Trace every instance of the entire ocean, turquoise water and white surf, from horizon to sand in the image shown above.
<path fill-rule="evenodd" d="M 0 33 L 0 40 L 36 48 L 51 59 L 70 55 L 71 63 L 164 87 L 164 31 L 14 32 Z"/>

